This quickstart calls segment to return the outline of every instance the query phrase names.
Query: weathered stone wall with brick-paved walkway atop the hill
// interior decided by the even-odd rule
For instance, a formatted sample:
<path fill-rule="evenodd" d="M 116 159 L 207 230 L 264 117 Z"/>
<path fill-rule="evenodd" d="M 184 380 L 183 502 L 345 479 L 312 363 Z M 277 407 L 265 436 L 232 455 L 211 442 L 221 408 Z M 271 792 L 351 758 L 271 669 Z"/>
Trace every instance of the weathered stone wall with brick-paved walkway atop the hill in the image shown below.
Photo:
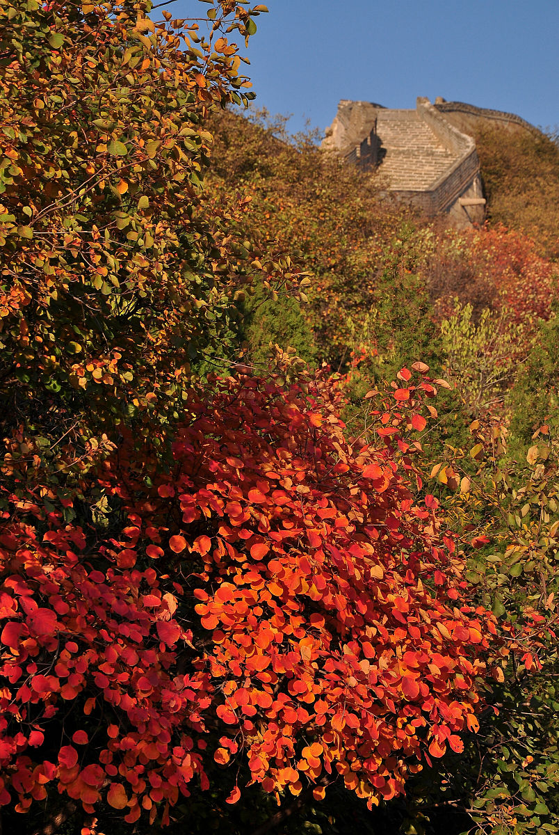
<path fill-rule="evenodd" d="M 419 97 L 412 110 L 342 99 L 323 147 L 376 170 L 393 199 L 466 227 L 485 218 L 474 137 L 490 125 L 539 133 L 515 114 L 440 97 Z"/>

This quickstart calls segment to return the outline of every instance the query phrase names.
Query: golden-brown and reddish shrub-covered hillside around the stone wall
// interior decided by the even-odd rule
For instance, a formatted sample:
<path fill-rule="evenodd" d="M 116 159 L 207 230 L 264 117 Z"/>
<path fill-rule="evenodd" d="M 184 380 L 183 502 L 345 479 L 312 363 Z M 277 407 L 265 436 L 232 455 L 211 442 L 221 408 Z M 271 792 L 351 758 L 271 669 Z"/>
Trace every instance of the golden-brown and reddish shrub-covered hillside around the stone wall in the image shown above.
<path fill-rule="evenodd" d="M 518 230 L 520 222 L 508 231 L 500 223 L 501 215 L 491 214 L 491 201 L 490 224 L 461 231 L 447 227 L 443 218 L 429 219 L 419 210 L 386 203 L 381 184 L 367 171 L 321 152 L 314 136 L 290 139 L 285 119 L 220 114 L 212 128 L 209 187 L 242 188 L 250 196 L 251 223 L 257 234 L 290 251 L 312 276 L 305 291 L 308 303 L 303 306 L 292 300 L 286 307 L 285 302 L 259 296 L 256 308 L 249 302 L 245 335 L 254 360 L 265 362 L 270 341 L 290 342 L 306 360 L 330 362 L 334 367 L 344 367 L 351 352 L 360 351 L 371 339 L 365 350 L 378 352 L 384 293 L 390 283 L 413 283 L 412 276 L 428 303 L 439 308 L 450 309 L 457 296 L 462 304 L 471 303 L 475 317 L 484 307 L 503 303 L 516 307 L 521 317 L 548 315 L 555 270 L 539 253 L 551 245 L 551 233 L 546 240 L 531 240 Z M 496 136 L 501 145 L 491 139 L 481 141 L 486 160 L 482 175 L 502 214 L 511 206 L 509 180 L 514 180 L 512 175 L 509 180 L 499 178 L 495 160 L 505 153 L 501 148 L 515 149 L 520 139 L 506 130 L 497 130 Z M 546 164 L 551 165 L 556 146 L 542 141 Z M 535 154 L 531 164 L 535 169 Z M 536 183 L 544 180 L 551 188 L 542 168 L 540 180 L 533 180 L 530 209 L 536 212 L 540 206 L 541 214 L 545 209 L 551 219 L 546 190 L 536 193 Z M 248 227 L 245 231 L 248 234 Z M 414 301 L 410 299 L 409 310 L 421 294 L 410 290 L 410 296 Z M 389 331 L 387 326 L 385 338 L 390 342 Z M 389 349 L 388 343 L 384 348 Z"/>

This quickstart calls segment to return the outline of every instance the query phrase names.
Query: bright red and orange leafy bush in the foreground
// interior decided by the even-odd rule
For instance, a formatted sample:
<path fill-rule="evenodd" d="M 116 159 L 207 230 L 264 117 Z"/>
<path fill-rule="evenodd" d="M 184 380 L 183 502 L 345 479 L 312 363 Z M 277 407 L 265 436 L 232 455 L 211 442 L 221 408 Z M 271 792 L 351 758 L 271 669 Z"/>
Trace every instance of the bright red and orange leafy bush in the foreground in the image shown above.
<path fill-rule="evenodd" d="M 15 502 L 3 803 L 56 787 L 86 812 L 106 797 L 153 820 L 239 757 L 266 792 L 320 796 L 341 775 L 378 802 L 461 751 L 494 618 L 468 602 L 436 499 L 415 498 L 436 388 L 402 381 L 373 410 L 377 442 L 351 445 L 326 379 L 215 380 L 189 399 L 169 473 L 147 488 L 126 444 L 105 463 L 122 524 L 104 538 Z"/>

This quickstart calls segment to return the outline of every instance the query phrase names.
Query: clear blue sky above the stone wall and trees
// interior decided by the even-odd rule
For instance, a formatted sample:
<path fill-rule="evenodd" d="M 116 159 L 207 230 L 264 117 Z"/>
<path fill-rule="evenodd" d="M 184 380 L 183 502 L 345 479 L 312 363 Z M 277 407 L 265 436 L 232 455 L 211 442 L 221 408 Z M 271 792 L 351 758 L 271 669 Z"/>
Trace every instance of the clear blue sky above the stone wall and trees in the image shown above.
<path fill-rule="evenodd" d="M 294 131 L 305 118 L 325 129 L 339 99 L 411 108 L 418 95 L 559 124 L 559 0 L 266 4 L 243 52 L 247 73 L 257 104 L 293 114 Z M 182 15 L 204 5 L 178 0 L 169 8 Z"/>

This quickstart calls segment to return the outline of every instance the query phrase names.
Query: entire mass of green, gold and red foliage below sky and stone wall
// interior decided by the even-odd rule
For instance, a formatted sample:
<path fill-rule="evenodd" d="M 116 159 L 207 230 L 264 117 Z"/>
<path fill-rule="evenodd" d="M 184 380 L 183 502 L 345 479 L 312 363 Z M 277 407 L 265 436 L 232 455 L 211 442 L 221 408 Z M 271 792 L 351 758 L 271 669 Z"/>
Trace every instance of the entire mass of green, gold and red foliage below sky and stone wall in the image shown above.
<path fill-rule="evenodd" d="M 234 113 L 265 7 L 156 10 L 0 3 L 0 824 L 556 832 L 551 230 L 383 205 Z"/>

